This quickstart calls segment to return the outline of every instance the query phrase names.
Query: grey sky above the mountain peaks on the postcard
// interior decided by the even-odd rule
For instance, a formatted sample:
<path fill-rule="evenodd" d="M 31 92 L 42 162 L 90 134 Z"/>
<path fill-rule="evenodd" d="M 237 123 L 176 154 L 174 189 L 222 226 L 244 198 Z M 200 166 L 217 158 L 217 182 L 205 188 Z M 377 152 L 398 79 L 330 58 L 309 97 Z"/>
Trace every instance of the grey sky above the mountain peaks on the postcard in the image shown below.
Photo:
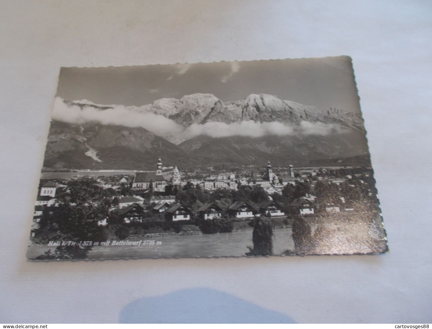
<path fill-rule="evenodd" d="M 360 111 L 349 57 L 61 68 L 57 96 L 140 106 L 197 92 L 222 101 L 263 93 L 323 110 Z"/>

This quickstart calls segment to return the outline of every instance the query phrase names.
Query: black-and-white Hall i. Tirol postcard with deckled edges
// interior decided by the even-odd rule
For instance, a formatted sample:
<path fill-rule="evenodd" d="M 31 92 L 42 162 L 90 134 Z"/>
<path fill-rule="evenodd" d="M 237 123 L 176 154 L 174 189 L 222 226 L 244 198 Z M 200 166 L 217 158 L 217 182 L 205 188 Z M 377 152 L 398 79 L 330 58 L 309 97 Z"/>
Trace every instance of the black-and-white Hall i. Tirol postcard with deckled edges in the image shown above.
<path fill-rule="evenodd" d="M 61 68 L 28 259 L 387 250 L 349 57 Z"/>

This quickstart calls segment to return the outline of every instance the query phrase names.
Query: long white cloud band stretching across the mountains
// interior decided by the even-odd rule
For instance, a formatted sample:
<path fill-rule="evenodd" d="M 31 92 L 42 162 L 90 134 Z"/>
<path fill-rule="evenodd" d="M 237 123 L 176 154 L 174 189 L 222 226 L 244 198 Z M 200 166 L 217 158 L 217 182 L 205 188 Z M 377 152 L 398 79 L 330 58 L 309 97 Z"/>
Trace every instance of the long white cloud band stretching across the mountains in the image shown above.
<path fill-rule="evenodd" d="M 54 120 L 77 124 L 98 122 L 105 125 L 143 127 L 151 133 L 175 143 L 180 143 L 200 135 L 210 137 L 262 137 L 267 135 L 286 136 L 295 134 L 324 136 L 330 133 L 341 133 L 343 131 L 339 124 L 322 122 L 311 123 L 308 121 L 302 121 L 299 125 L 287 125 L 281 122 L 260 123 L 252 120 L 230 124 L 223 122 L 206 122 L 204 124 L 194 123 L 185 128 L 163 115 L 137 112 L 123 105 L 110 106 L 112 108 L 106 110 L 100 110 L 91 105 L 81 108 L 76 105 L 66 104 L 62 98 L 57 97 L 54 101 L 52 118 Z"/>

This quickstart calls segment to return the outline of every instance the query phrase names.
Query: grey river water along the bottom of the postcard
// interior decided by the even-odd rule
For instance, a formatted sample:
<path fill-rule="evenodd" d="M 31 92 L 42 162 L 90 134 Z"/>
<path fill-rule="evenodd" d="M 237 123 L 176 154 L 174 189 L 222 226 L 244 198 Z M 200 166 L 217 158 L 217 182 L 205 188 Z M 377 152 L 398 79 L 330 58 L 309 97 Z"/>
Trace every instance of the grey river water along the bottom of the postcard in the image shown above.
<path fill-rule="evenodd" d="M 291 233 L 291 228 L 274 230 L 273 253 L 275 255 L 281 255 L 284 250 L 294 249 Z M 141 239 L 128 241 L 137 240 Z M 249 251 L 248 246 L 253 246 L 252 231 L 155 237 L 152 240 L 160 241 L 161 244 L 97 246 L 89 252 L 88 258 L 245 256 L 245 253 Z M 50 248 L 55 249 L 55 247 L 45 245 L 29 247 L 27 257 L 35 259 Z"/>

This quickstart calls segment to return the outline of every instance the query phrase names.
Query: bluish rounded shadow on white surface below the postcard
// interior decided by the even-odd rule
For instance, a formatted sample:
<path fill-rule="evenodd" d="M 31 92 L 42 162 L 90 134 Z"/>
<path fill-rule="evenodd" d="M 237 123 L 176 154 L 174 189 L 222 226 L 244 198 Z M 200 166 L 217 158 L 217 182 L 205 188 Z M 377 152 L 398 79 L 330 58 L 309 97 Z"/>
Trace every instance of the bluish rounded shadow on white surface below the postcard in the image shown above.
<path fill-rule="evenodd" d="M 283 313 L 209 288 L 191 288 L 126 305 L 120 323 L 295 323 Z"/>

